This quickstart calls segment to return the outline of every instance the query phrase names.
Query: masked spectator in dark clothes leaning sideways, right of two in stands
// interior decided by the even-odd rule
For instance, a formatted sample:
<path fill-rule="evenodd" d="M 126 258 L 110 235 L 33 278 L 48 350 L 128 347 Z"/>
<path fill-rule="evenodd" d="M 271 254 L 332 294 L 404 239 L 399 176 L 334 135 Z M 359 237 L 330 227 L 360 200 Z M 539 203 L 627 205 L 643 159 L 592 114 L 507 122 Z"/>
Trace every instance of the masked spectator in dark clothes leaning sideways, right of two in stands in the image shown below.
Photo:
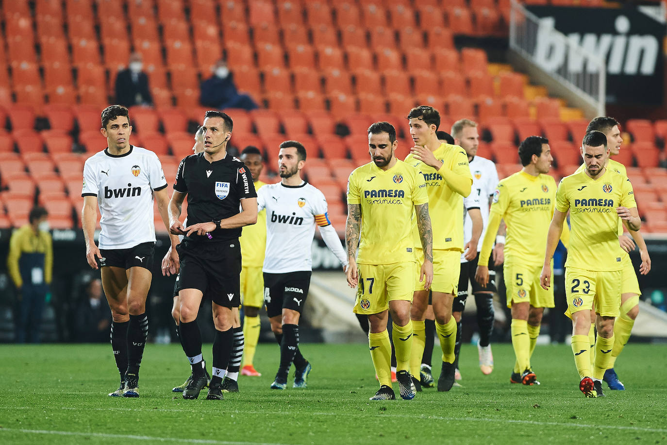
<path fill-rule="evenodd" d="M 234 75 L 229 71 L 227 62 L 219 60 L 213 66 L 213 75 L 201 82 L 199 103 L 216 109 L 243 108 L 255 109 L 257 104 L 247 95 L 239 93 L 234 84 Z"/>

